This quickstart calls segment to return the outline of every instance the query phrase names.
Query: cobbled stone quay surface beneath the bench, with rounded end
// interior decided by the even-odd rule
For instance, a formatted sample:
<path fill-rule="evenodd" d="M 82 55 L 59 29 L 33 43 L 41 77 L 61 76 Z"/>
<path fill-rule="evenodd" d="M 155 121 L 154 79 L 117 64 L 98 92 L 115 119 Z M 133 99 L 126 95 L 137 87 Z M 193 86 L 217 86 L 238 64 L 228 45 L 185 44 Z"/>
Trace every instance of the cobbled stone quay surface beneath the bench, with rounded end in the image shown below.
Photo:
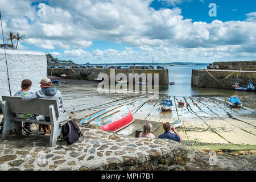
<path fill-rule="evenodd" d="M 168 139 L 125 137 L 80 125 L 85 139 L 47 147 L 49 136 L 0 141 L 1 170 L 184 170 L 188 149 Z"/>

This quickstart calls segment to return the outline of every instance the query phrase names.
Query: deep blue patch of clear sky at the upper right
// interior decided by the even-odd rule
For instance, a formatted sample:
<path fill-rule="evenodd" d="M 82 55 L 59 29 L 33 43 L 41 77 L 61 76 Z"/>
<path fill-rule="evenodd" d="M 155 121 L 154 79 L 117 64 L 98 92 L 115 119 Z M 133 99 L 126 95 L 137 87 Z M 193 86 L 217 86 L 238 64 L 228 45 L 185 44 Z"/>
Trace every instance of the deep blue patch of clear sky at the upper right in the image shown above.
<path fill-rule="evenodd" d="M 217 5 L 217 16 L 210 17 L 208 12 L 210 8 L 208 7 L 210 3 L 216 3 Z M 162 8 L 172 9 L 174 7 L 179 7 L 181 9 L 181 15 L 184 18 L 192 19 L 193 22 L 207 22 L 210 23 L 214 19 L 221 20 L 222 22 L 230 20 L 240 20 L 243 21 L 247 17 L 245 14 L 256 11 L 256 1 L 253 0 L 192 0 L 183 1 L 182 3 L 177 3 L 175 6 L 168 4 L 163 1 L 153 1 L 151 7 L 155 10 Z"/>

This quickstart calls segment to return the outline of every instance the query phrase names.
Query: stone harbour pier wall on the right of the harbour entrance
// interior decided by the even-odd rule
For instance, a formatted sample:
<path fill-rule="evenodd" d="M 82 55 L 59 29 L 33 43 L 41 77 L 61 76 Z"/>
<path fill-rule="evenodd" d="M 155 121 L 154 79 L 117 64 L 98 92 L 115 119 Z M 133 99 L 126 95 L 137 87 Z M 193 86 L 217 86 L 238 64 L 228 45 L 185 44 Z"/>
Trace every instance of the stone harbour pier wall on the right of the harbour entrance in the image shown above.
<path fill-rule="evenodd" d="M 232 83 L 240 86 L 256 83 L 256 71 L 203 70 L 193 69 L 191 85 L 205 88 L 233 89 Z"/>

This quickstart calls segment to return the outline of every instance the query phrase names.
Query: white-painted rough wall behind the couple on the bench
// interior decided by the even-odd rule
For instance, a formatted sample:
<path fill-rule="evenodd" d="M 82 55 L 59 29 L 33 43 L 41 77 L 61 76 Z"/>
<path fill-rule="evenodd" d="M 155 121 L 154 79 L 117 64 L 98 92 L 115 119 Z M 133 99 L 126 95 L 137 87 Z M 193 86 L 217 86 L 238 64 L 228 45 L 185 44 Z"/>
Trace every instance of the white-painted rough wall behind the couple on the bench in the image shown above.
<path fill-rule="evenodd" d="M 30 91 L 40 89 L 40 80 L 47 77 L 46 54 L 35 51 L 6 50 L 11 95 L 21 89 L 22 80 L 32 81 Z M 0 49 L 0 96 L 10 96 L 7 80 L 5 50 Z M 0 97 L 2 100 L 2 97 Z"/>

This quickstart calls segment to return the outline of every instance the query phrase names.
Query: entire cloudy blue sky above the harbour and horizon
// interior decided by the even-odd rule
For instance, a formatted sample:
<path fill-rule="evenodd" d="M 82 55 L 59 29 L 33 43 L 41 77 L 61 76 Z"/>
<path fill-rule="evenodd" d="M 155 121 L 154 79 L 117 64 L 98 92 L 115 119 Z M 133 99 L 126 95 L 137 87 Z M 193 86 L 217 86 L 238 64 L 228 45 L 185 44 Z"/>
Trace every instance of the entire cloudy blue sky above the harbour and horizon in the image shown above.
<path fill-rule="evenodd" d="M 93 64 L 256 60 L 255 7 L 254 0 L 0 1 L 3 32 L 26 34 L 18 49 Z"/>

